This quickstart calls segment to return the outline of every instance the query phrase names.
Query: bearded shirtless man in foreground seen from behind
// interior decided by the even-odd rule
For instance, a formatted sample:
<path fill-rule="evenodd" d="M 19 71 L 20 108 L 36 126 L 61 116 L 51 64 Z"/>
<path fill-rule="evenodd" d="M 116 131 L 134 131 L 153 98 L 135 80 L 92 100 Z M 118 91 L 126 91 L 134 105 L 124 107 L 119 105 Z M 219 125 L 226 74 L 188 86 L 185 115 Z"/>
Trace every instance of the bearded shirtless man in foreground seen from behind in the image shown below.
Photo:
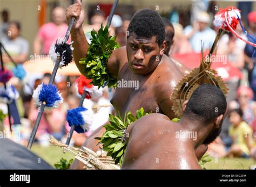
<path fill-rule="evenodd" d="M 178 123 L 159 113 L 138 119 L 127 129 L 121 169 L 200 169 L 196 150 L 217 138 L 226 106 L 223 92 L 204 84 L 184 102 Z"/>

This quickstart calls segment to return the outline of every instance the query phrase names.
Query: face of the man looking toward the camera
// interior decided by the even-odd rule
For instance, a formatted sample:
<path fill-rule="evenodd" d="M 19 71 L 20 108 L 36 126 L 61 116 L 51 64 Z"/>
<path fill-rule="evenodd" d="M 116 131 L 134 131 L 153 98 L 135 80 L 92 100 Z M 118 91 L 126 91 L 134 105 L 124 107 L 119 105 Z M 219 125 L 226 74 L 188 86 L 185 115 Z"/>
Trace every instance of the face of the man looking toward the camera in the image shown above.
<path fill-rule="evenodd" d="M 126 51 L 129 66 L 134 74 L 146 75 L 157 67 L 164 54 L 166 42 L 158 46 L 156 37 L 138 37 L 134 32 L 130 33 L 127 40 Z"/>

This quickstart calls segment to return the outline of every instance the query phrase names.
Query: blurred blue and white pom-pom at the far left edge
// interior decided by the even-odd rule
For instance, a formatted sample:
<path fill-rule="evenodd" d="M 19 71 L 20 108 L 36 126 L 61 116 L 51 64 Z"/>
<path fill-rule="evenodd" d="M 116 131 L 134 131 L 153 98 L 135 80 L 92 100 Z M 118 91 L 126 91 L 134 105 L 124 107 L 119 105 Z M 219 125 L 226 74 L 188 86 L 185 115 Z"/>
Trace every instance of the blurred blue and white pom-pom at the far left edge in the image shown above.
<path fill-rule="evenodd" d="M 0 87 L 0 102 L 5 104 L 10 104 L 14 100 L 18 99 L 19 93 L 13 86 L 8 86 L 6 89 Z"/>

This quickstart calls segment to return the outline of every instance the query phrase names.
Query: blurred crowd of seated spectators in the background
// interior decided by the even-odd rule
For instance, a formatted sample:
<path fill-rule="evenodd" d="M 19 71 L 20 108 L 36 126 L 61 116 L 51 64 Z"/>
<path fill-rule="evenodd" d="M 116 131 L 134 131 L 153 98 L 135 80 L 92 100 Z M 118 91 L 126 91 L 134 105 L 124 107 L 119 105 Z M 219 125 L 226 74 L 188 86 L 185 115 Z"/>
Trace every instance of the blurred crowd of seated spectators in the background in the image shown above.
<path fill-rule="evenodd" d="M 15 132 L 21 133 L 17 142 L 26 145 L 33 124 L 35 123 L 38 109 L 32 99 L 33 90 L 42 82 L 48 83 L 53 68 L 51 60 L 47 57 L 52 42 L 58 37 L 64 37 L 68 28 L 65 20 L 65 8 L 73 1 L 36 1 L 34 9 L 36 15 L 29 13 L 32 8 L 25 8 L 22 14 L 17 16 L 11 5 L 18 5 L 19 1 L 3 1 L 1 6 L 0 39 L 12 59 L 23 64 L 27 71 L 24 80 L 12 77 L 10 84 L 14 85 L 19 92 L 19 98 L 11 104 L 12 123 Z M 173 34 L 168 40 L 172 43 L 169 56 L 185 64 L 188 68 L 198 67 L 200 52 L 207 51 L 213 44 L 218 32 L 212 24 L 214 14 L 220 8 L 234 5 L 241 12 L 242 25 L 245 30 L 256 38 L 256 3 L 255 2 L 214 2 L 214 1 L 163 1 L 145 3 L 124 1 L 119 3 L 116 15 L 112 19 L 111 34 L 117 35 L 117 41 L 121 46 L 126 45 L 126 31 L 133 14 L 142 8 L 157 10 L 162 17 L 172 23 Z M 144 2 L 144 3 L 143 3 Z M 100 24 L 106 24 L 110 13 L 112 1 L 83 1 L 86 11 L 84 33 L 90 42 L 90 31 L 98 30 Z M 134 5 L 132 5 L 134 4 Z M 169 6 L 170 5 L 170 6 Z M 28 23 L 32 18 L 37 21 Z M 14 19 L 15 18 L 15 19 Z M 28 19 L 26 19 L 28 18 Z M 23 23 L 23 24 L 22 24 Z M 31 29 L 29 28 L 30 25 Z M 166 27 L 167 29 L 167 27 Z M 29 31 L 30 30 L 30 31 Z M 242 38 L 248 39 L 240 25 L 237 33 Z M 168 37 L 168 36 L 167 36 Z M 249 39 L 250 40 L 250 39 Z M 69 41 L 71 41 L 69 39 Z M 230 112 L 224 120 L 220 136 L 208 149 L 208 153 L 215 157 L 239 156 L 254 157 L 256 147 L 256 60 L 255 48 L 246 45 L 237 39 L 232 33 L 225 33 L 219 40 L 216 56 L 219 59 L 213 61 L 212 68 L 227 82 L 230 92 L 227 102 Z M 254 57 L 253 57 L 254 56 Z M 8 55 L 3 53 L 3 62 L 8 69 L 14 65 Z M 66 71 L 58 74 L 55 80 L 64 103 L 58 109 L 44 111 L 36 140 L 41 145 L 47 145 L 46 137 L 55 136 L 58 140 L 66 138 L 69 126 L 65 121 L 66 111 L 78 106 L 79 95 L 75 80 L 80 75 L 75 65 L 67 67 Z M 114 90 L 105 88 L 103 96 L 97 99 L 85 99 L 83 106 L 88 108 L 93 105 L 110 104 Z M 0 109 L 6 113 L 5 104 L 0 103 Z M 81 146 L 93 130 L 103 125 L 109 113 L 113 113 L 112 107 L 102 107 L 95 115 L 97 118 L 92 130 L 85 134 L 73 135 L 72 143 Z M 4 120 L 8 129 L 8 119 Z"/>

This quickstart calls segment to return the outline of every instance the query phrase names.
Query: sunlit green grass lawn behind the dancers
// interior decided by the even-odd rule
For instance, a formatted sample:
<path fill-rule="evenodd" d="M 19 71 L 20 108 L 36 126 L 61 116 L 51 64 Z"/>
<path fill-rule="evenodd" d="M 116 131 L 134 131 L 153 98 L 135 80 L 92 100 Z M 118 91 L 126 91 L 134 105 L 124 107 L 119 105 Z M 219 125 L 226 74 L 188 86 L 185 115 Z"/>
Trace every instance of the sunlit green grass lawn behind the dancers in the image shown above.
<path fill-rule="evenodd" d="M 32 152 L 36 153 L 46 162 L 54 167 L 54 164 L 60 161 L 61 158 L 66 160 L 74 159 L 74 155 L 70 152 L 63 153 L 63 149 L 56 146 L 42 147 L 39 145 L 33 145 Z M 249 169 L 250 166 L 256 164 L 253 159 L 229 159 L 229 158 L 219 158 L 215 159 L 210 157 L 212 161 L 205 163 L 206 169 Z"/>

